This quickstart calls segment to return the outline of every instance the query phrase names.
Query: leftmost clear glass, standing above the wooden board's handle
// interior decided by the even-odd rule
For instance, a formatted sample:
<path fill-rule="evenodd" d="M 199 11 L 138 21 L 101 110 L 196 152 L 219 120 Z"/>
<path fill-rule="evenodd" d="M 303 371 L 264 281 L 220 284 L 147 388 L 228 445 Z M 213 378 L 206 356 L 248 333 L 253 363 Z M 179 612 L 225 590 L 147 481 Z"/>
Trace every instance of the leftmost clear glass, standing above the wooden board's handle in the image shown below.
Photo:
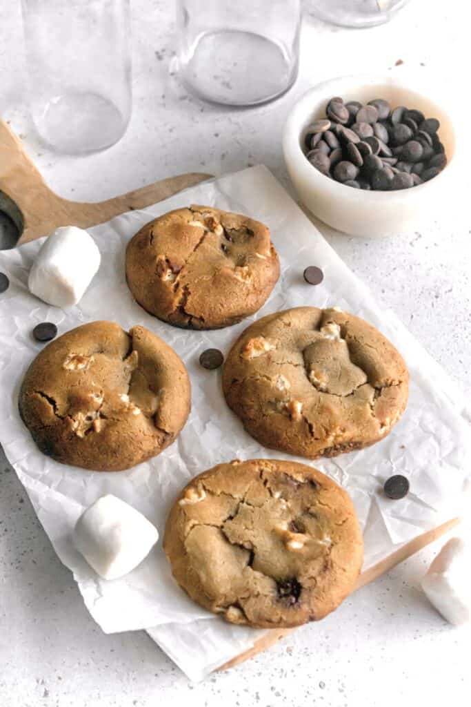
<path fill-rule="evenodd" d="M 80 154 L 131 117 L 129 0 L 22 0 L 30 110 L 42 140 Z"/>

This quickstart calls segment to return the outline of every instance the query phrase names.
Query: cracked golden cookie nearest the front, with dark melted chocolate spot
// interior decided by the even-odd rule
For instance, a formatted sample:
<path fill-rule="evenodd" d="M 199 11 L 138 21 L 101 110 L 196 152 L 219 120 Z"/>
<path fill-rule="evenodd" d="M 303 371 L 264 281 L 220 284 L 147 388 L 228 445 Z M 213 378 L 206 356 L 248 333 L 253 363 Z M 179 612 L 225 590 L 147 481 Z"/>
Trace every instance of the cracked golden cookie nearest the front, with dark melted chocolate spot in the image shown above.
<path fill-rule="evenodd" d="M 165 527 L 172 573 L 233 624 L 299 626 L 352 591 L 363 542 L 350 496 L 304 464 L 219 464 L 180 493 Z"/>

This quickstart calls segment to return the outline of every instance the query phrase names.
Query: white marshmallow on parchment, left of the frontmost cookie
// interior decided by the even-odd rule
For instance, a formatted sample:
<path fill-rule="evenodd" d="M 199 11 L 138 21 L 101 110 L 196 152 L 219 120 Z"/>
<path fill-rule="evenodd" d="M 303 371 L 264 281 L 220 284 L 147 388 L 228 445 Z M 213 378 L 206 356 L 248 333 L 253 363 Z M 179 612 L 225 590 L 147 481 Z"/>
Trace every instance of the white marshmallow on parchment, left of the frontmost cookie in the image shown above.
<path fill-rule="evenodd" d="M 131 572 L 148 556 L 159 534 L 138 510 L 107 493 L 81 515 L 73 544 L 103 579 Z"/>

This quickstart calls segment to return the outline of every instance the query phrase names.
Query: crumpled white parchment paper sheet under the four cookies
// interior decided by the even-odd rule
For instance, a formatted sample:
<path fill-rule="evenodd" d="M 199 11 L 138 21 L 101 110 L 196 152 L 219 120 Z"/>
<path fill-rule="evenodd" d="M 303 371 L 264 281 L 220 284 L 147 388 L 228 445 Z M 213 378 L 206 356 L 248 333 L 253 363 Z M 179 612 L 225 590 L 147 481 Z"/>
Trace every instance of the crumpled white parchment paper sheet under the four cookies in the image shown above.
<path fill-rule="evenodd" d="M 271 228 L 282 264 L 280 281 L 258 315 L 235 327 L 215 332 L 170 327 L 141 309 L 126 286 L 124 250 L 131 236 L 155 216 L 191 203 L 250 214 Z M 369 449 L 315 462 L 353 498 L 364 530 L 364 568 L 458 513 L 471 460 L 465 400 L 392 312 L 378 308 L 371 293 L 266 168 L 255 167 L 198 185 L 96 226 L 90 234 L 102 254 L 100 271 L 81 303 L 66 311 L 49 307 L 28 292 L 28 271 L 42 241 L 0 252 L 0 269 L 11 280 L 8 291 L 0 296 L 0 440 L 54 549 L 73 571 L 85 604 L 103 631 L 148 629 L 192 679 L 201 679 L 249 648 L 263 633 L 225 624 L 193 604 L 172 580 L 160 543 L 131 574 L 106 582 L 75 551 L 71 530 L 86 506 L 103 493 L 114 493 L 141 510 L 162 536 L 172 498 L 203 469 L 234 457 L 305 461 L 266 450 L 249 437 L 225 404 L 220 371 L 206 371 L 198 365 L 201 351 L 215 346 L 227 352 L 246 326 L 270 312 L 299 305 L 338 306 L 376 325 L 407 361 L 410 402 L 390 436 Z M 308 264 L 323 269 L 321 285 L 304 283 L 302 272 Z M 20 381 L 42 348 L 32 339 L 32 328 L 52 321 L 64 333 L 100 319 L 114 320 L 124 329 L 142 324 L 165 339 L 186 364 L 192 385 L 191 415 L 174 445 L 150 462 L 114 474 L 86 472 L 45 457 L 18 415 Z M 379 491 L 397 473 L 410 479 L 411 492 L 402 501 L 392 502 Z"/>

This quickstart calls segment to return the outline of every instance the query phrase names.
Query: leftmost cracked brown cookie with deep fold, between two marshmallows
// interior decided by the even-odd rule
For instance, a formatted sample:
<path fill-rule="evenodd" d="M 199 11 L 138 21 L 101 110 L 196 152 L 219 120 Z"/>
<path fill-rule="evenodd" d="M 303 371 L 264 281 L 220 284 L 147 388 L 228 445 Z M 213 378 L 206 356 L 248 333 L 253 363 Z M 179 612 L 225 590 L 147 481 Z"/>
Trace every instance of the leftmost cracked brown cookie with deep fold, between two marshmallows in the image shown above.
<path fill-rule="evenodd" d="M 38 354 L 19 407 L 44 454 L 112 472 L 168 447 L 189 415 L 190 398 L 186 368 L 155 334 L 91 322 Z"/>

